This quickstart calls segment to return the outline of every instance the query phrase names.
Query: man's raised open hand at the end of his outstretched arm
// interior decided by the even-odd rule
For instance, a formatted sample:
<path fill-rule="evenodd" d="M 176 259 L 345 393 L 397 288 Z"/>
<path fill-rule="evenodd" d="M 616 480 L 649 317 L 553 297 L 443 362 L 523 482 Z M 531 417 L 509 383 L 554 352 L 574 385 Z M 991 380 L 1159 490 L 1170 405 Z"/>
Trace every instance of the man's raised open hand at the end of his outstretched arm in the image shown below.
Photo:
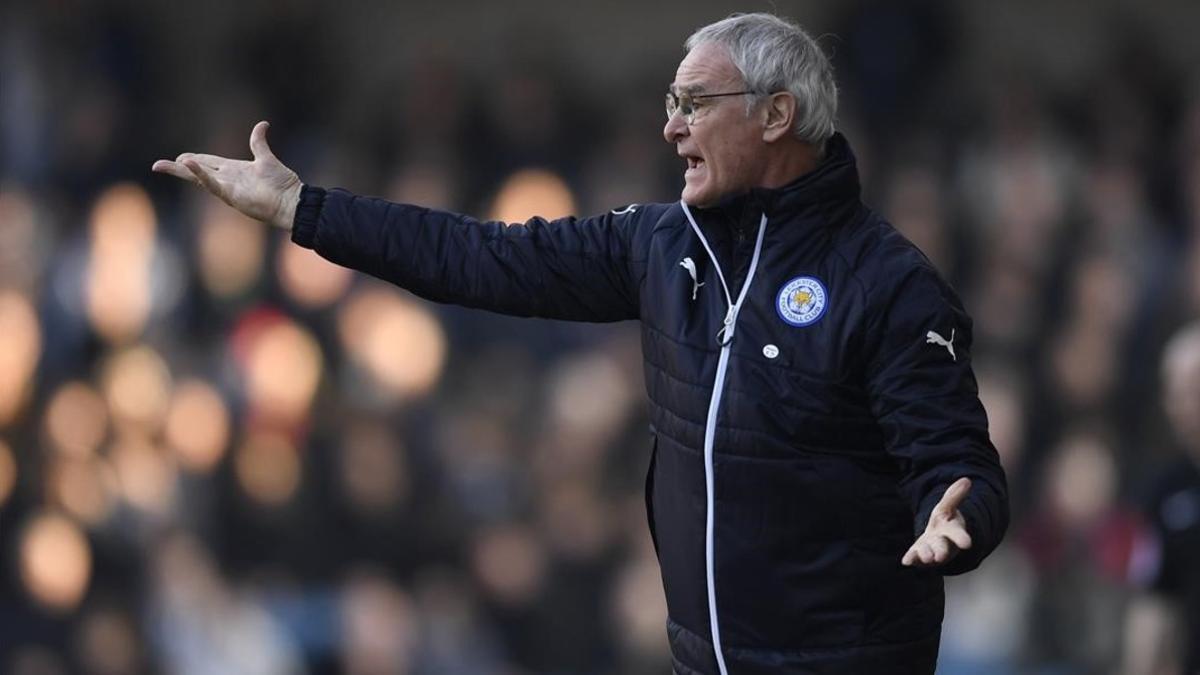
<path fill-rule="evenodd" d="M 158 160 L 150 168 L 190 180 L 254 220 L 292 229 L 302 185 L 300 177 L 271 153 L 266 144 L 269 126 L 260 121 L 250 132 L 253 161 L 184 153 L 174 161 Z"/>

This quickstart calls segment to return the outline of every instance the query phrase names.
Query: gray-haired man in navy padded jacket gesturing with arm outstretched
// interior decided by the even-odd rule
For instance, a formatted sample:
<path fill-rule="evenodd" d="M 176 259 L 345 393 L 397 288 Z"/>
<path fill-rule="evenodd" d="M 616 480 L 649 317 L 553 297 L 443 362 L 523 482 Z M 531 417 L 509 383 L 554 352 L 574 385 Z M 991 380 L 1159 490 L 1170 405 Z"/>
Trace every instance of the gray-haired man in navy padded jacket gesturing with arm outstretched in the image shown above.
<path fill-rule="evenodd" d="M 193 180 L 340 264 L 436 301 L 640 319 L 647 508 L 674 669 L 934 671 L 942 575 L 1008 522 L 971 321 L 859 198 L 829 64 L 733 16 L 686 43 L 666 141 L 682 199 L 523 226 L 302 185 L 271 154 L 184 154 Z"/>

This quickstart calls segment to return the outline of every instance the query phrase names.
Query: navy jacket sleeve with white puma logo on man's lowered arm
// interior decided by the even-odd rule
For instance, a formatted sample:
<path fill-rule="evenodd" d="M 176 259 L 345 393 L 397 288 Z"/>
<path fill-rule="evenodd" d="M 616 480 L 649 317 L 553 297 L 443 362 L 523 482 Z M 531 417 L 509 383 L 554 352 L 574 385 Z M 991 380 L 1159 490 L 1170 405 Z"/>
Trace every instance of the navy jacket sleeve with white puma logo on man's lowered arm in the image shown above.
<path fill-rule="evenodd" d="M 905 473 L 901 491 L 916 514 L 914 536 L 925 531 L 947 488 L 971 479 L 960 512 L 972 546 L 942 568 L 961 574 L 1004 536 L 1008 488 L 971 370 L 971 318 L 928 263 L 898 276 L 880 291 L 865 342 L 871 408 Z"/>

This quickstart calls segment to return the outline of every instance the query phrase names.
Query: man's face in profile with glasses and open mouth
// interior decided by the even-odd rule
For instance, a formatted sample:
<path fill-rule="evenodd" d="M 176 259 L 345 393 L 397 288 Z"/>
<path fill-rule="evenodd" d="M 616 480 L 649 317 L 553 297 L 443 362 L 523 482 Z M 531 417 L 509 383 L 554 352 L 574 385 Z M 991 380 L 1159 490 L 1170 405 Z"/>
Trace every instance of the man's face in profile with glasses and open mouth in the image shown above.
<path fill-rule="evenodd" d="M 676 94 L 742 91 L 745 82 L 725 47 L 698 44 L 679 64 L 671 90 Z M 746 115 L 745 97 L 700 98 L 688 124 L 676 113 L 662 129 L 667 143 L 688 160 L 683 201 L 708 207 L 724 197 L 755 187 L 764 165 L 762 124 Z"/>

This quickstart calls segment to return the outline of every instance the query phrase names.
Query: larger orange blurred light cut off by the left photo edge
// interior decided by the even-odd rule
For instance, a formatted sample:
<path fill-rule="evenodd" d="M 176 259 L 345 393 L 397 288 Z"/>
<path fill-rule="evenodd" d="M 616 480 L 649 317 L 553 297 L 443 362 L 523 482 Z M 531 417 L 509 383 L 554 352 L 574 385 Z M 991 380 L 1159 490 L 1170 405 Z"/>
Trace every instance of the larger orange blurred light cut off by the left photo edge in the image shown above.
<path fill-rule="evenodd" d="M 0 291 L 0 428 L 22 411 L 42 354 L 42 329 L 29 299 Z"/>

